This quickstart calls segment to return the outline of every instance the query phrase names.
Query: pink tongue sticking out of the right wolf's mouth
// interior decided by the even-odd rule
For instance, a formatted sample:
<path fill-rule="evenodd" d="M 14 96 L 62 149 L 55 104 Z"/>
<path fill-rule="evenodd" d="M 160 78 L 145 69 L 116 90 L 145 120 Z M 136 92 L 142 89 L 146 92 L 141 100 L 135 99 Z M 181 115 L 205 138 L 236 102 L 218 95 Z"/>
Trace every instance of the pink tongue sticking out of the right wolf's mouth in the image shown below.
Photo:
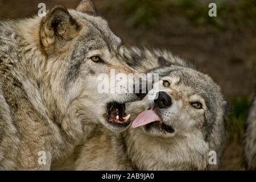
<path fill-rule="evenodd" d="M 131 127 L 139 127 L 143 125 L 147 125 L 148 123 L 152 123 L 154 121 L 160 121 L 161 119 L 157 114 L 155 114 L 154 110 L 145 110 L 141 114 L 134 119 L 133 124 Z"/>

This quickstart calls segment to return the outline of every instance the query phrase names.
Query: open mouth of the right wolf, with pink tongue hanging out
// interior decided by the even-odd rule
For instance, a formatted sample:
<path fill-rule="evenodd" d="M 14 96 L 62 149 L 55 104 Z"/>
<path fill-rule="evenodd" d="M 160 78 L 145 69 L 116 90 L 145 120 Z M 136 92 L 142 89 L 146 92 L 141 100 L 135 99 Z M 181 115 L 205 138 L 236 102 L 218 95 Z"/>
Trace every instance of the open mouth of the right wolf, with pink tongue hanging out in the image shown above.
<path fill-rule="evenodd" d="M 159 115 L 155 113 L 154 108 L 150 110 L 145 110 L 141 114 L 139 114 L 137 118 L 133 121 L 132 127 L 158 127 L 160 130 L 164 130 L 167 133 L 174 133 L 174 129 L 171 126 L 168 126 L 164 124 L 163 121 L 161 121 Z"/>

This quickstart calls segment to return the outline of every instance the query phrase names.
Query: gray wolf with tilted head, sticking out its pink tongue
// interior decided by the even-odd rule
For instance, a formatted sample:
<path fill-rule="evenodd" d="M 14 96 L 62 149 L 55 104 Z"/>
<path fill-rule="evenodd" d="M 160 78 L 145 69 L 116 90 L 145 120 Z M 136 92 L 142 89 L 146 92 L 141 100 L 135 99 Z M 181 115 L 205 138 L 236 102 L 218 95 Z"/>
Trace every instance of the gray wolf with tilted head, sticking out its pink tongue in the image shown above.
<path fill-rule="evenodd" d="M 159 73 L 141 101 L 126 104 L 133 121 L 121 133 L 97 127 L 94 135 L 55 169 L 213 170 L 221 163 L 228 102 L 212 78 L 164 49 L 126 48 L 141 73 Z M 159 90 L 155 90 L 156 85 Z M 156 95 L 155 100 L 148 100 Z M 210 163 L 210 153 L 216 163 Z"/>

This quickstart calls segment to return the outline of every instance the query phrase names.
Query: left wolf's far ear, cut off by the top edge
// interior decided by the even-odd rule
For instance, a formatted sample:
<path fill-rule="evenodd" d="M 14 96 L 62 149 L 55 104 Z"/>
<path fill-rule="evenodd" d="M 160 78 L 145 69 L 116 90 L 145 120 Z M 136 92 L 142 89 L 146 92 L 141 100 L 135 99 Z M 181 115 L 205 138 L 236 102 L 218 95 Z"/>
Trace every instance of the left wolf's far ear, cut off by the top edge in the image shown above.
<path fill-rule="evenodd" d="M 76 11 L 86 13 L 93 16 L 98 16 L 98 11 L 91 0 L 82 0 L 76 8 Z"/>

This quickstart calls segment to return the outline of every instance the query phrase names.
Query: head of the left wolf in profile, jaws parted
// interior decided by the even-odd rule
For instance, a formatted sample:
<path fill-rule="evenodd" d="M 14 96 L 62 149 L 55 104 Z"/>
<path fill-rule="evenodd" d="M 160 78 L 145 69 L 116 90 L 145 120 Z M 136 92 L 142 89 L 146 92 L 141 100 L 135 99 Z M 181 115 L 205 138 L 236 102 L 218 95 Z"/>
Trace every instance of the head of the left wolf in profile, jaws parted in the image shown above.
<path fill-rule="evenodd" d="M 100 121 L 114 131 L 128 126 L 124 104 L 137 100 L 137 95 L 124 91 L 100 93 L 102 80 L 98 77 L 104 73 L 105 82 L 111 82 L 115 81 L 110 76 L 112 69 L 127 76 L 135 71 L 122 60 L 122 40 L 98 16 L 91 1 L 82 1 L 76 10 L 53 7 L 40 23 L 39 41 L 47 57 L 44 93 L 50 98 L 49 106 L 58 112 L 55 115 L 72 111 L 79 121 Z M 110 118 L 110 107 L 119 112 L 119 119 Z"/>

